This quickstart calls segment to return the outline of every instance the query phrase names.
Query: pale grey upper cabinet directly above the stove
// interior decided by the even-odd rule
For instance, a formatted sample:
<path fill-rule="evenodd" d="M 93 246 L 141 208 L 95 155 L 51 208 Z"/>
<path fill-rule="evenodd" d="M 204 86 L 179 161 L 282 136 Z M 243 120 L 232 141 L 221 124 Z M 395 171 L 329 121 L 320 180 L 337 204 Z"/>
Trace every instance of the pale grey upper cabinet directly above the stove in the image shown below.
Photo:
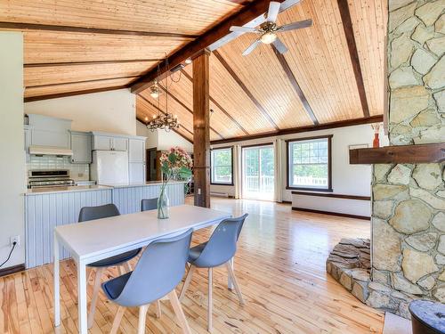
<path fill-rule="evenodd" d="M 71 147 L 71 120 L 28 114 L 28 124 L 31 129 L 31 145 L 64 149 Z"/>

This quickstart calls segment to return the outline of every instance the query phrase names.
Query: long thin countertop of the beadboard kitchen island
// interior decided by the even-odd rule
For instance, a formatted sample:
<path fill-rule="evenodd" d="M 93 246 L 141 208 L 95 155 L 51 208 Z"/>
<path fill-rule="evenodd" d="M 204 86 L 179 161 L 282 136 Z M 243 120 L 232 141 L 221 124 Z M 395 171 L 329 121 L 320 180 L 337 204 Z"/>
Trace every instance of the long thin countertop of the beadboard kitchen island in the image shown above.
<path fill-rule="evenodd" d="M 74 191 L 98 191 L 105 189 L 113 189 L 113 188 L 133 188 L 133 187 L 144 187 L 150 185 L 159 185 L 162 182 L 160 181 L 150 181 L 147 183 L 118 183 L 118 184 L 88 184 L 88 185 L 74 185 L 69 187 L 42 187 L 42 188 L 33 188 L 28 189 L 25 192 L 25 196 L 31 196 L 41 193 L 55 193 L 55 192 L 74 192 Z M 185 183 L 185 181 L 170 181 L 169 184 L 173 183 Z"/>

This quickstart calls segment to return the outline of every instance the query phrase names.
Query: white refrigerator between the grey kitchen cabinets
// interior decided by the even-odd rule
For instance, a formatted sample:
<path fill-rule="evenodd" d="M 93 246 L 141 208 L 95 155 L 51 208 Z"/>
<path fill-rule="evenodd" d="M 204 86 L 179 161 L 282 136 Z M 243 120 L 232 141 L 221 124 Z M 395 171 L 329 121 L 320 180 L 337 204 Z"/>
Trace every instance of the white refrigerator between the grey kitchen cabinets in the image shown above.
<path fill-rule="evenodd" d="M 97 184 L 128 184 L 128 152 L 93 151 L 90 174 Z"/>

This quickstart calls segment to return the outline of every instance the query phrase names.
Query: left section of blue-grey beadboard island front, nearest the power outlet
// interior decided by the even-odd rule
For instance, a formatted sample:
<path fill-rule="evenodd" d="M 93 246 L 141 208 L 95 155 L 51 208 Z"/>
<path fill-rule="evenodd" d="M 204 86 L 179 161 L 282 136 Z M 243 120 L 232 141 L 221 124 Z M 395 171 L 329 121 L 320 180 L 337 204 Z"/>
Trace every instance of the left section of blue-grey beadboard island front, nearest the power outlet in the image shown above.
<path fill-rule="evenodd" d="M 27 268 L 53 262 L 53 230 L 55 226 L 77 223 L 83 207 L 112 202 L 112 190 L 42 193 L 25 196 Z M 61 259 L 69 252 L 61 248 Z"/>

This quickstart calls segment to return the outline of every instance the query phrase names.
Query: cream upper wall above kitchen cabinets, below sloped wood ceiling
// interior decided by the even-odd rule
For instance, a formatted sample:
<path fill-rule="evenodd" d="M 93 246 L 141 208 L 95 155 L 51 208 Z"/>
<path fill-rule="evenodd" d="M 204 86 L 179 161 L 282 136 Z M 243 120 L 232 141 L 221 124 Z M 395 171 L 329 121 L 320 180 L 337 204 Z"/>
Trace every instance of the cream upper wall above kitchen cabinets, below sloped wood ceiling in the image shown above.
<path fill-rule="evenodd" d="M 25 113 L 72 119 L 77 131 L 136 134 L 135 94 L 129 89 L 25 103 Z"/>

